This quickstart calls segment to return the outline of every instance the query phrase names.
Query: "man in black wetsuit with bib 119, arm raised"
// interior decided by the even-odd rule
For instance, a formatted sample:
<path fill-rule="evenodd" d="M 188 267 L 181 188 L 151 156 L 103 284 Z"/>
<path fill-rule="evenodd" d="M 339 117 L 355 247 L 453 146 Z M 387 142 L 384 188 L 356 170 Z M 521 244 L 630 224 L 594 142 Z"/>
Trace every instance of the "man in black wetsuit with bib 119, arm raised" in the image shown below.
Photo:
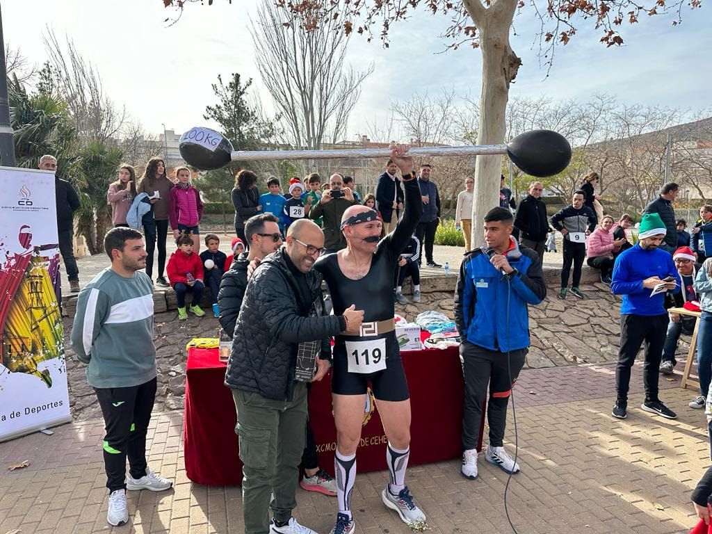
<path fill-rule="evenodd" d="M 329 285 L 336 315 L 352 304 L 365 313 L 358 331 L 347 328 L 336 337 L 333 352 L 337 430 L 334 464 L 339 511 L 332 534 L 350 534 L 354 529 L 351 494 L 369 381 L 388 438 L 390 483 L 381 492 L 382 501 L 409 525 L 425 521 L 425 514 L 415 505 L 404 483 L 411 412 L 393 321 L 393 273 L 423 209 L 412 158 L 406 152 L 405 145 L 391 150 L 391 158 L 403 175 L 406 200 L 405 214 L 394 231 L 379 241 L 382 223 L 376 211 L 367 206 L 351 206 L 341 219 L 346 248 L 322 256 L 314 265 Z"/>

